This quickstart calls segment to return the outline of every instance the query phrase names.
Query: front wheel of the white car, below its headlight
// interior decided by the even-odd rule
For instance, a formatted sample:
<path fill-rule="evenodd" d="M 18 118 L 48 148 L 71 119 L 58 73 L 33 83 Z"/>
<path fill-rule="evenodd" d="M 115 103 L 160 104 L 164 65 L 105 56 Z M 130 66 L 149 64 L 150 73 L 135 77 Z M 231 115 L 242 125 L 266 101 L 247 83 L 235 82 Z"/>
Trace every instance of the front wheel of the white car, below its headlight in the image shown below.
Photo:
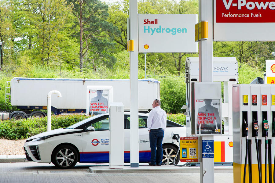
<path fill-rule="evenodd" d="M 60 169 L 69 169 L 75 166 L 78 152 L 71 145 L 60 145 L 52 154 L 52 163 Z"/>

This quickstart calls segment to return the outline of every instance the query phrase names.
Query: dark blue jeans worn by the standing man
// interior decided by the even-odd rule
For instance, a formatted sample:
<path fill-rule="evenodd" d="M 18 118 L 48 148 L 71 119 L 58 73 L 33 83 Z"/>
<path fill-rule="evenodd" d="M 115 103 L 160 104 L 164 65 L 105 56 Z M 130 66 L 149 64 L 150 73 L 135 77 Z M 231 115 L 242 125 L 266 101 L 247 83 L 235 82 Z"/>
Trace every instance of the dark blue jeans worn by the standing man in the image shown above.
<path fill-rule="evenodd" d="M 149 133 L 151 148 L 151 163 L 161 165 L 163 159 L 162 140 L 164 136 L 163 129 L 151 129 Z"/>

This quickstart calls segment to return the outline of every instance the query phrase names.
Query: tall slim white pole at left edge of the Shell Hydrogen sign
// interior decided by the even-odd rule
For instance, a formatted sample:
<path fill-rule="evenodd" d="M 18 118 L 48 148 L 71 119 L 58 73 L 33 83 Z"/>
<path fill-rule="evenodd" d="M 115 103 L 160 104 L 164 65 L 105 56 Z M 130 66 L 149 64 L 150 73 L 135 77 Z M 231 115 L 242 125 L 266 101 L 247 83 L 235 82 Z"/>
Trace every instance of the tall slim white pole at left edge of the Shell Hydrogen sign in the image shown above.
<path fill-rule="evenodd" d="M 138 167 L 138 1 L 129 1 L 130 40 L 130 167 Z"/>

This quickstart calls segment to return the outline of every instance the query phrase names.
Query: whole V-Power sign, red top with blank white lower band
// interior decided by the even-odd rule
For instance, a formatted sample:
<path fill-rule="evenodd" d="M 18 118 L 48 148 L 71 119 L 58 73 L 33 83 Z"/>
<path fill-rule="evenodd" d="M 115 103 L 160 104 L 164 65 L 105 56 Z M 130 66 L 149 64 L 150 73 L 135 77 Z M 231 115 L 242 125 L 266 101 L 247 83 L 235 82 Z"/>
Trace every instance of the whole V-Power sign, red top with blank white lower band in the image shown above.
<path fill-rule="evenodd" d="M 214 41 L 275 41 L 275 2 L 214 0 Z"/>

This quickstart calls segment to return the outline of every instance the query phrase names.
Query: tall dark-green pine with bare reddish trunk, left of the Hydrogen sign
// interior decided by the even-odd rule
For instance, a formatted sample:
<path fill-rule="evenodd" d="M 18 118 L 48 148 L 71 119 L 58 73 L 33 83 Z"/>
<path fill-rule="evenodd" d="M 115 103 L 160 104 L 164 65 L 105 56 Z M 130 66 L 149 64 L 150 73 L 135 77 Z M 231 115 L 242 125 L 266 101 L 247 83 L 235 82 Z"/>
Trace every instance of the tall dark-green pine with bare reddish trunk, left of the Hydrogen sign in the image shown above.
<path fill-rule="evenodd" d="M 114 57 L 105 52 L 105 48 L 113 46 L 113 35 L 119 34 L 119 30 L 112 23 L 106 21 L 108 5 L 103 4 L 100 0 L 71 0 L 70 2 L 73 4 L 73 14 L 79 25 L 80 72 L 83 68 L 83 58 L 88 51 L 97 54 L 105 60 L 107 65 L 111 66 L 114 63 Z"/>

